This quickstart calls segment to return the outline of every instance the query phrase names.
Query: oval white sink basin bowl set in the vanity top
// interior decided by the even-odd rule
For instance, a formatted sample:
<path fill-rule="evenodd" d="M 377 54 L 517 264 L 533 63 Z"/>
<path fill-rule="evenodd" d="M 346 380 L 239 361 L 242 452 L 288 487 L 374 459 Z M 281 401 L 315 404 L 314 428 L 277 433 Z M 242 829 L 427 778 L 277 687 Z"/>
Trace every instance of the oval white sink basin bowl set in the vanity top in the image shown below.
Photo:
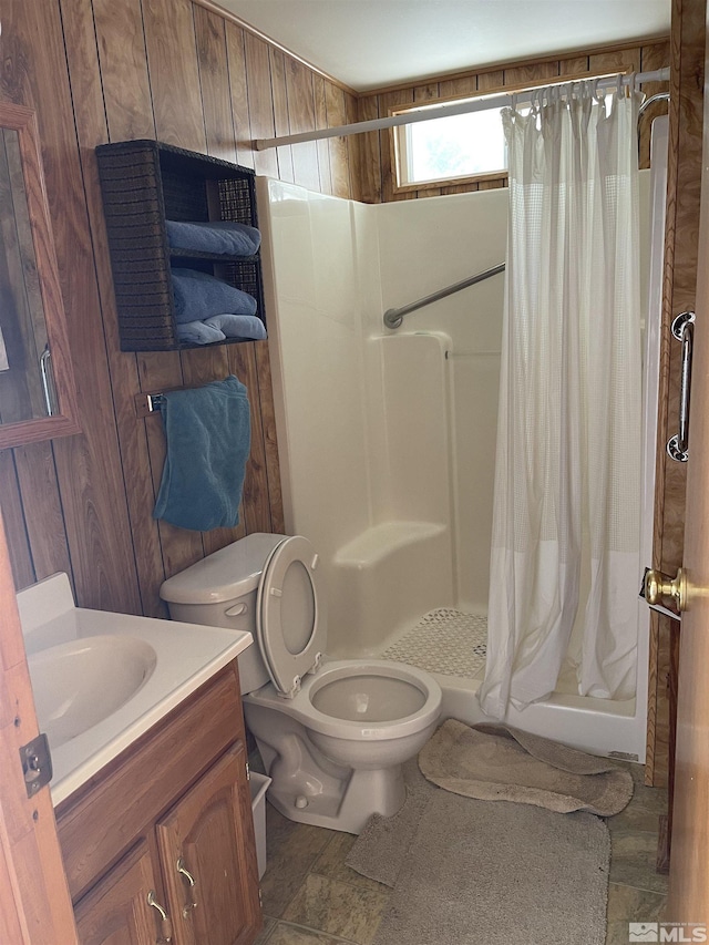
<path fill-rule="evenodd" d="M 28 660 L 40 728 L 51 748 L 103 721 L 151 678 L 157 655 L 137 637 L 105 634 L 49 647 Z"/>

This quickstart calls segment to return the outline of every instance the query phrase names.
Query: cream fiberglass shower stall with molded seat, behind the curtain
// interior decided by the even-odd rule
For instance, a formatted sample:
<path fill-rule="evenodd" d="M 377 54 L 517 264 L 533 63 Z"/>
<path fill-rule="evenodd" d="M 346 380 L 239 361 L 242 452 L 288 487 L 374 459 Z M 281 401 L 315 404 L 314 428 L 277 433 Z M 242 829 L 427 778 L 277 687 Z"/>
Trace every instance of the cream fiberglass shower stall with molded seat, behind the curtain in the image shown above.
<path fill-rule="evenodd" d="M 640 175 L 646 523 L 666 153 L 659 120 L 653 172 Z M 503 277 L 412 312 L 394 331 L 382 315 L 504 260 L 506 189 L 362 205 L 257 183 L 286 531 L 306 535 L 321 556 L 328 654 L 381 655 L 439 608 L 485 615 Z M 645 561 L 650 541 L 646 527 Z M 638 600 L 635 699 L 580 697 L 562 679 L 548 700 L 512 709 L 507 721 L 643 760 L 647 615 Z M 485 718 L 474 695 L 481 676 L 436 677 L 448 716 Z"/>

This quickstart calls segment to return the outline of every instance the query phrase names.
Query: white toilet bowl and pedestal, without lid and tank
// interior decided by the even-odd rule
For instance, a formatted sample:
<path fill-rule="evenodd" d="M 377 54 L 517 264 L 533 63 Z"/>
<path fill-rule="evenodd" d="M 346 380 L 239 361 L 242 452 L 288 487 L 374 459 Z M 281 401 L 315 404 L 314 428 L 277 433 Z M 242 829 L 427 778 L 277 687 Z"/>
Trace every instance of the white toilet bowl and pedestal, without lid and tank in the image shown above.
<path fill-rule="evenodd" d="M 379 721 L 378 712 L 391 711 L 387 698 L 401 717 Z M 390 818 L 403 804 L 401 766 L 433 735 L 441 690 L 413 667 L 332 660 L 304 679 L 292 698 L 267 684 L 243 705 L 273 779 L 267 797 L 274 807 L 299 823 L 359 834 L 372 814 Z M 372 718 L 358 719 L 362 709 Z"/>

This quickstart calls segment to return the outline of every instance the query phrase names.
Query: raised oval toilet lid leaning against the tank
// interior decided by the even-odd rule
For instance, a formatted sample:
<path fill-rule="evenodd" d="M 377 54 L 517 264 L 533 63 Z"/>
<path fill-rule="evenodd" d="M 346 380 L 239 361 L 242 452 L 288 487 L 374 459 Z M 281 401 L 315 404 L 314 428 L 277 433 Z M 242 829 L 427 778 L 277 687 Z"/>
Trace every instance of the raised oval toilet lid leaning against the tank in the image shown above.
<path fill-rule="evenodd" d="M 256 598 L 256 635 L 270 678 L 284 696 L 319 661 L 326 626 L 315 572 L 318 555 L 307 538 L 286 538 L 264 565 Z"/>

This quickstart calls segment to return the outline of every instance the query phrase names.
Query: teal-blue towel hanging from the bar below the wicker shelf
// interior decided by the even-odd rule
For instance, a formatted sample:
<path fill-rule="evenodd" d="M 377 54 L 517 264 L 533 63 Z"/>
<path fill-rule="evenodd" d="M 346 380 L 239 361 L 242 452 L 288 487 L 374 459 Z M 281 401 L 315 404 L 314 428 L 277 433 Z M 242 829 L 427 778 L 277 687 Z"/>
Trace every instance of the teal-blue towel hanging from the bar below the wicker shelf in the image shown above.
<path fill-rule="evenodd" d="M 153 517 L 196 532 L 238 525 L 251 433 L 244 384 L 230 374 L 169 391 L 161 413 L 167 453 Z"/>

